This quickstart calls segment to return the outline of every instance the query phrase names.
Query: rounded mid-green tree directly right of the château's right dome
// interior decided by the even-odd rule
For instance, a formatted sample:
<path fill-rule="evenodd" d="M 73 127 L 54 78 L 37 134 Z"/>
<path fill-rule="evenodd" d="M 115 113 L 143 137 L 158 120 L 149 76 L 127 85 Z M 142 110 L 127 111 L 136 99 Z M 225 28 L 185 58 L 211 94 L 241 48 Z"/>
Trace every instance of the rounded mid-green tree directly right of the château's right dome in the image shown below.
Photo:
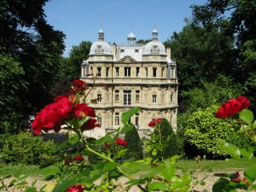
<path fill-rule="evenodd" d="M 233 39 L 217 28 L 196 26 L 187 20 L 182 32 L 174 32 L 166 44 L 171 44 L 177 61 L 177 77 L 181 90 L 198 86 L 201 79 L 212 82 L 218 73 L 229 75 L 230 49 Z"/>

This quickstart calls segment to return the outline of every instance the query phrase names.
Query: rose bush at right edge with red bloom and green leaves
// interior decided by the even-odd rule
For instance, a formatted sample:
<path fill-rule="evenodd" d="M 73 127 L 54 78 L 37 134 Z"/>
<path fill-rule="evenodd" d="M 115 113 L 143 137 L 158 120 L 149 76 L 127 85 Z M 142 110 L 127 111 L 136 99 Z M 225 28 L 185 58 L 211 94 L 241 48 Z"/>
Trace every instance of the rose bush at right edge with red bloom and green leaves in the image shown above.
<path fill-rule="evenodd" d="M 251 138 L 253 143 L 256 143 L 256 120 L 253 121 L 253 112 L 247 109 L 250 105 L 250 100 L 245 96 L 237 96 L 236 99 L 230 99 L 220 106 L 216 112 L 218 118 L 230 118 L 239 114 L 241 121 L 240 132 Z M 223 150 L 230 154 L 236 160 L 253 160 L 253 151 L 255 148 L 238 148 L 232 143 L 225 143 Z M 236 174 L 227 174 L 228 178 L 220 178 L 212 186 L 212 191 L 237 191 L 236 189 L 255 190 L 256 184 L 256 162 L 255 166 L 248 167 L 244 172 L 244 177 L 241 177 L 239 172 Z"/>

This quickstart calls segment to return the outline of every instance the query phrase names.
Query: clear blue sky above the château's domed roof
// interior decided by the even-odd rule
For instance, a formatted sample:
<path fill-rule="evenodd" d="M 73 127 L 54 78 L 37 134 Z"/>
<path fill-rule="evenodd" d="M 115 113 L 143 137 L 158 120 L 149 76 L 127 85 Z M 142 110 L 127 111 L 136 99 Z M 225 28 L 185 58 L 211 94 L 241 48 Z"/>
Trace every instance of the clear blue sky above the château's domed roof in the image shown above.
<path fill-rule="evenodd" d="M 126 43 L 132 31 L 138 39 L 150 39 L 154 26 L 159 40 L 180 32 L 191 17 L 192 4 L 207 0 L 51 0 L 46 3 L 46 20 L 66 35 L 64 56 L 82 41 L 96 42 L 102 27 L 108 43 Z"/>

